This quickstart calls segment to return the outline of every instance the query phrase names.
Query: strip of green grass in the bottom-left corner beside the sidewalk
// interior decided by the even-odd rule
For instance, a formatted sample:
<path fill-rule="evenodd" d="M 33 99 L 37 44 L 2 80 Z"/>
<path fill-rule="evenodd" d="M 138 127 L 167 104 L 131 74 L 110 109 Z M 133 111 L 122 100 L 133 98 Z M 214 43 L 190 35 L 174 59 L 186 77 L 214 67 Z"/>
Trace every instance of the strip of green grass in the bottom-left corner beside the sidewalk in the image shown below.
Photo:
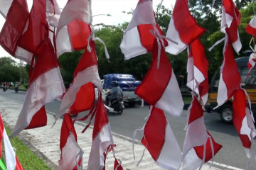
<path fill-rule="evenodd" d="M 7 135 L 11 135 L 11 130 L 4 126 L 7 132 Z M 13 137 L 11 140 L 11 145 L 16 149 L 16 156 L 18 157 L 18 161 L 23 166 L 24 170 L 47 170 L 51 169 L 43 162 L 43 159 L 40 159 L 34 154 L 26 145 L 23 144 L 18 137 Z"/>

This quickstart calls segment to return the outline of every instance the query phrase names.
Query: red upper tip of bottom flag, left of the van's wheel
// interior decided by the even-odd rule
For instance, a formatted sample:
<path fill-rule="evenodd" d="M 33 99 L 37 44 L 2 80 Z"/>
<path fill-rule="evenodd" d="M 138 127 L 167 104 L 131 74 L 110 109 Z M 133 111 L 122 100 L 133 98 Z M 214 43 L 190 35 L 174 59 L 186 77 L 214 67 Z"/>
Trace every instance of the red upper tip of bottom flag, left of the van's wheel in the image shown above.
<path fill-rule="evenodd" d="M 199 103 L 196 96 L 193 96 L 191 111 L 190 111 L 190 115 L 189 115 L 189 118 L 188 118 L 188 125 L 190 123 L 192 123 L 194 120 L 196 120 L 198 118 L 201 118 L 202 116 L 203 116 L 202 106 Z"/>

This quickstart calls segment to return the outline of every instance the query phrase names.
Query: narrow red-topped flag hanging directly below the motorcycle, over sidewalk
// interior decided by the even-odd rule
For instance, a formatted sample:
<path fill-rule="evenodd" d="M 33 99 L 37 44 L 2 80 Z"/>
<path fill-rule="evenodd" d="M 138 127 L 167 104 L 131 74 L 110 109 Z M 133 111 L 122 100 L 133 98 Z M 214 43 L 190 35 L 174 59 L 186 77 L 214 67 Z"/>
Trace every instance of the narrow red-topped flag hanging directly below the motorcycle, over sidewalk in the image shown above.
<path fill-rule="evenodd" d="M 87 169 L 105 169 L 106 152 L 112 145 L 114 145 L 114 142 L 110 123 L 100 94 L 96 103 L 95 123 L 92 132 L 92 149 Z"/>

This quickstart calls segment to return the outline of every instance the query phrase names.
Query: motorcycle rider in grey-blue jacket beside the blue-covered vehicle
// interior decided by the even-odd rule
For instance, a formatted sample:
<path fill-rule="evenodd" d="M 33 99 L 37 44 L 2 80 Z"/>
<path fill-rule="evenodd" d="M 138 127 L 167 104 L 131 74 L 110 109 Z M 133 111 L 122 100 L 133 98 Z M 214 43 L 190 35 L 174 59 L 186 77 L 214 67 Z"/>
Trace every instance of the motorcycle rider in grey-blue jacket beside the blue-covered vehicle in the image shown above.
<path fill-rule="evenodd" d="M 117 81 L 112 81 L 112 89 L 107 92 L 106 101 L 108 106 L 112 105 L 112 101 L 117 100 L 118 98 L 122 98 L 122 89 L 118 86 Z"/>

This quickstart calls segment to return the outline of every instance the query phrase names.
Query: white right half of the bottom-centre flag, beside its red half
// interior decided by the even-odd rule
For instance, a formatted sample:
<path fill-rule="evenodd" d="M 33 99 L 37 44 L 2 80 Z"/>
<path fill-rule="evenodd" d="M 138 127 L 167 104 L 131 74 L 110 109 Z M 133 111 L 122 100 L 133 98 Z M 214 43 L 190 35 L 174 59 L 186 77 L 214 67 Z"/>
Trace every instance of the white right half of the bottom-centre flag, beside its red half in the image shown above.
<path fill-rule="evenodd" d="M 174 132 L 166 120 L 165 140 L 156 164 L 164 169 L 179 169 L 181 166 L 181 149 Z"/>

